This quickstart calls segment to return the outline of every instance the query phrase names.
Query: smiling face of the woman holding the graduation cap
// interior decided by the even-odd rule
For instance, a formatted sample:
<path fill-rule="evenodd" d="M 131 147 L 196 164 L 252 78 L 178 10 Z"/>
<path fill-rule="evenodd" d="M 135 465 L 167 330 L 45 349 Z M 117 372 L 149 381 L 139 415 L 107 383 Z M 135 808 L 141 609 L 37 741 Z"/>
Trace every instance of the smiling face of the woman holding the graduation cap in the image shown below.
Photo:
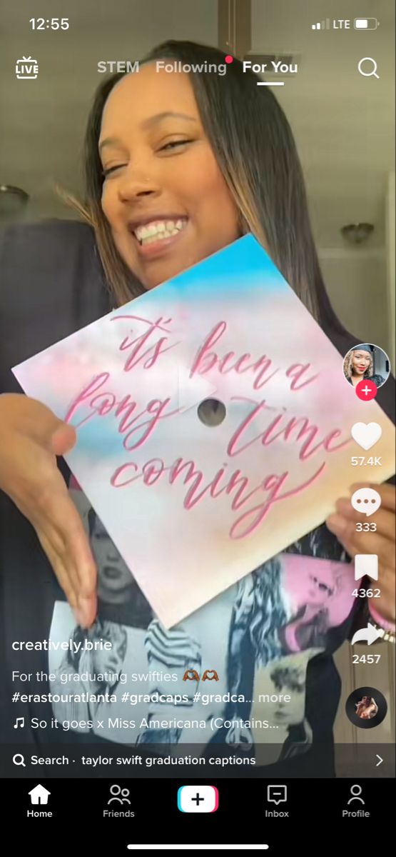
<path fill-rule="evenodd" d="M 188 75 L 150 63 L 119 81 L 105 104 L 99 150 L 105 217 L 146 289 L 240 236 Z"/>

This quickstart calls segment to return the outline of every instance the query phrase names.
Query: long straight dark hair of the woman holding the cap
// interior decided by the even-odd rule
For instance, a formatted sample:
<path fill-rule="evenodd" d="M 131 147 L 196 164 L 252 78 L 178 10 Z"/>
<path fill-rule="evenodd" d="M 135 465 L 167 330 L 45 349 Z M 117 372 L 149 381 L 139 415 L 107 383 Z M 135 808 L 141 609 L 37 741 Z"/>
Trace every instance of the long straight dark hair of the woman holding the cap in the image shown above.
<path fill-rule="evenodd" d="M 142 61 L 173 59 L 191 65 L 224 63 L 217 48 L 188 41 L 167 41 Z M 118 304 L 144 291 L 117 252 L 101 208 L 103 170 L 99 133 L 105 101 L 123 74 L 112 75 L 98 88 L 85 137 L 85 201 L 63 193 L 93 226 L 105 275 Z M 335 326 L 309 223 L 303 171 L 291 128 L 273 93 L 257 87 L 252 72 L 234 59 L 225 75 L 189 72 L 201 122 L 219 168 L 236 202 L 243 231 L 251 231 L 317 321 L 331 318 Z"/>

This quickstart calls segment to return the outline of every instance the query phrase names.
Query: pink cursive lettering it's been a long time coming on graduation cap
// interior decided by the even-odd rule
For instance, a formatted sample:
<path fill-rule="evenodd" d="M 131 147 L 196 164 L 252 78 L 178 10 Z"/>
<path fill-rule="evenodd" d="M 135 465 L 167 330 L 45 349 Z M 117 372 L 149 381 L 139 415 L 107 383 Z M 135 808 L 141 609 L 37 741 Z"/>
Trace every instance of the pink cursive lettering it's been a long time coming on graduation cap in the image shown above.
<path fill-rule="evenodd" d="M 118 346 L 120 353 L 126 354 L 126 361 L 121 367 L 121 372 L 133 372 L 139 366 L 149 371 L 157 365 L 167 351 L 177 348 L 180 342 L 172 342 L 171 319 L 162 316 L 156 321 L 141 318 L 137 315 L 116 315 L 110 317 L 111 322 L 117 324 L 128 324 L 129 333 L 124 336 Z M 138 326 L 143 325 L 143 333 L 131 338 L 131 322 Z M 297 461 L 300 464 L 317 456 L 318 453 L 337 452 L 343 448 L 350 439 L 341 440 L 339 428 L 332 428 L 327 432 L 309 421 L 309 417 L 291 416 L 290 402 L 287 408 L 274 409 L 267 399 L 261 399 L 261 389 L 266 385 L 274 383 L 273 379 L 283 375 L 287 379 L 290 393 L 297 395 L 302 390 L 315 384 L 318 375 L 314 373 L 310 363 L 293 363 L 285 369 L 279 369 L 273 365 L 273 361 L 267 355 L 254 358 L 251 354 L 244 353 L 240 357 L 234 351 L 227 351 L 223 356 L 219 355 L 221 339 L 227 331 L 227 323 L 219 321 L 208 333 L 202 345 L 195 354 L 190 368 L 189 377 L 195 375 L 206 375 L 217 370 L 220 375 L 236 373 L 246 374 L 252 382 L 252 398 L 231 397 L 231 401 L 243 402 L 248 410 L 243 420 L 232 431 L 225 447 L 225 456 L 229 459 L 237 458 L 248 449 L 249 446 L 267 447 L 275 441 L 292 444 L 297 452 Z M 117 370 L 117 373 L 120 371 Z M 213 375 L 212 375 L 213 377 Z M 175 395 L 165 395 L 163 399 L 151 399 L 142 409 L 142 404 L 133 399 L 130 393 L 122 398 L 111 392 L 111 372 L 103 371 L 95 375 L 91 381 L 75 397 L 66 414 L 65 421 L 73 423 L 75 428 L 81 427 L 98 417 L 111 414 L 115 417 L 115 430 L 120 435 L 123 449 L 127 452 L 135 452 L 141 449 L 155 429 L 164 420 L 175 420 L 177 415 L 183 411 L 183 407 L 175 409 L 171 399 Z M 276 383 L 276 381 L 275 381 Z M 289 399 L 289 397 L 286 397 Z M 292 397 L 294 399 L 294 397 Z M 327 417 L 328 418 L 328 417 Z M 249 440 L 246 435 L 251 433 L 252 428 L 257 426 L 258 432 Z M 259 428 L 260 427 L 260 428 Z M 224 457 L 225 457 L 224 456 Z M 120 464 L 111 475 L 113 488 L 125 488 L 141 480 L 147 487 L 153 486 L 159 480 L 167 480 L 173 485 L 177 480 L 183 481 L 188 486 L 183 500 L 186 510 L 193 509 L 204 497 L 210 496 L 216 500 L 222 495 L 231 497 L 231 509 L 233 512 L 242 510 L 242 514 L 234 520 L 230 537 L 232 539 L 244 538 L 254 532 L 261 522 L 266 518 L 274 503 L 291 498 L 300 494 L 323 473 L 326 461 L 321 460 L 315 472 L 310 473 L 309 478 L 297 485 L 291 486 L 291 474 L 289 470 L 282 473 L 269 473 L 259 476 L 259 484 L 252 486 L 251 479 L 243 475 L 239 468 L 231 472 L 231 461 L 223 463 L 212 478 L 207 479 L 203 469 L 192 459 L 176 458 L 169 464 L 162 458 L 151 458 L 142 465 L 128 460 Z M 260 472 L 260 458 L 257 460 L 257 470 Z M 298 468 L 301 471 L 301 467 Z M 310 470 L 310 468 L 309 468 Z M 286 487 L 286 483 L 289 485 Z M 258 500 L 258 502 L 256 502 Z M 253 501 L 253 506 L 252 506 Z"/>

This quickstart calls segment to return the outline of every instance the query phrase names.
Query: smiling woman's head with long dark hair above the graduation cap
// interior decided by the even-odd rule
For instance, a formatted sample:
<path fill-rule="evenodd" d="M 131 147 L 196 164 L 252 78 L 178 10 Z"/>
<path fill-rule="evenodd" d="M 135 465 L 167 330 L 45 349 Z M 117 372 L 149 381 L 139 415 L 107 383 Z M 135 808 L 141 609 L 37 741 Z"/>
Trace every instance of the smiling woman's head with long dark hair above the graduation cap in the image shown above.
<path fill-rule="evenodd" d="M 235 58 L 224 76 L 159 67 L 174 60 L 199 69 L 224 58 L 213 47 L 168 41 L 138 73 L 105 80 L 87 123 L 84 204 L 63 197 L 93 226 L 120 304 L 251 231 L 315 318 L 341 332 L 296 146 L 273 93 Z M 148 243 L 135 235 L 143 226 Z"/>

